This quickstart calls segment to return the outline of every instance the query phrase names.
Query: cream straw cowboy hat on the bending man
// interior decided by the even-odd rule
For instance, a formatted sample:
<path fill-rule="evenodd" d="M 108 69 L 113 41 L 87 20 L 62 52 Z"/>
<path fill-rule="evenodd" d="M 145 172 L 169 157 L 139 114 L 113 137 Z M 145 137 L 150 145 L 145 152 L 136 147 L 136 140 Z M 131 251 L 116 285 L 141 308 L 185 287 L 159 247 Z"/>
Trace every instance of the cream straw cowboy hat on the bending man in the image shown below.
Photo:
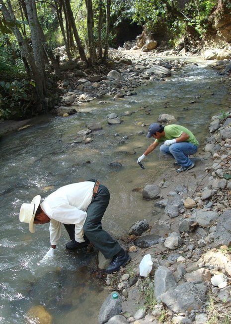
<path fill-rule="evenodd" d="M 20 222 L 29 224 L 29 231 L 31 233 L 35 232 L 34 216 L 38 209 L 40 201 L 41 201 L 41 196 L 37 195 L 33 198 L 31 203 L 24 203 L 21 205 L 20 208 L 19 220 Z"/>

